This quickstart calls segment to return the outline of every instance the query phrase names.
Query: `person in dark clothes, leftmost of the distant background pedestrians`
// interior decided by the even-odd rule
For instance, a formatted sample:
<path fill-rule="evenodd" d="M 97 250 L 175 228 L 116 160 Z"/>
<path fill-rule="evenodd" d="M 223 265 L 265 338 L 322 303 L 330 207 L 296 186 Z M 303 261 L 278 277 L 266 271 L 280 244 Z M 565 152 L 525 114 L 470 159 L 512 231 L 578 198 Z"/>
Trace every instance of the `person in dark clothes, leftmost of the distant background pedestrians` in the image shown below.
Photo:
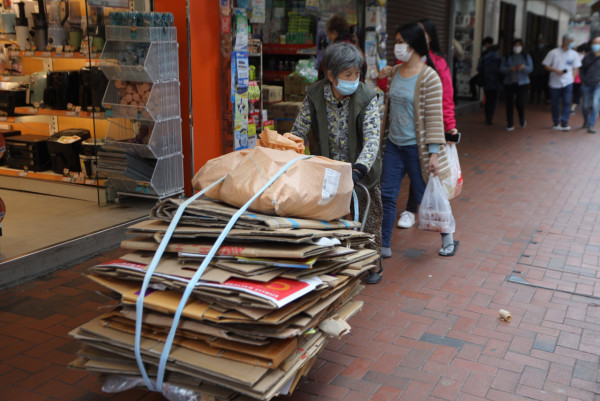
<path fill-rule="evenodd" d="M 502 89 L 502 75 L 500 74 L 502 59 L 498 54 L 499 50 L 498 45 L 491 46 L 477 63 L 477 72 L 481 75 L 485 94 L 485 123 L 487 125 L 492 125 L 498 93 Z"/>

